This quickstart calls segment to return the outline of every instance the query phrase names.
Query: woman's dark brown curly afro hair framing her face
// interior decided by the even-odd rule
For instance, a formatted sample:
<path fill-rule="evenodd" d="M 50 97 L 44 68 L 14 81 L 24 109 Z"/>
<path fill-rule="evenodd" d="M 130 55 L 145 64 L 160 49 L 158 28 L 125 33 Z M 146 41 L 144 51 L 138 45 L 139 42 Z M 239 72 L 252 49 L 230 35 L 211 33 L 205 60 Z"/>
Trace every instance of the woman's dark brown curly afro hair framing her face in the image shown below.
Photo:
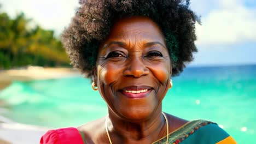
<path fill-rule="evenodd" d="M 92 77 L 98 47 L 107 38 L 114 22 L 122 17 L 147 16 L 161 28 L 169 55 L 172 75 L 179 75 L 197 52 L 195 23 L 200 20 L 189 8 L 189 0 L 80 0 L 80 7 L 62 43 L 71 64 Z"/>

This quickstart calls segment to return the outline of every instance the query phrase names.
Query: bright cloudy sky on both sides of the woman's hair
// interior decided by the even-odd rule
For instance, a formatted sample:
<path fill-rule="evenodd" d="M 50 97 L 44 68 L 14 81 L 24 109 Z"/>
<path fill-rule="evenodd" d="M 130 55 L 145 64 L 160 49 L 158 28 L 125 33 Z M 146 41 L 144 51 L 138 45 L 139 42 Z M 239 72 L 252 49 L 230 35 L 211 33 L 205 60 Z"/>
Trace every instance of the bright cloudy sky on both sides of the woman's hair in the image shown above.
<path fill-rule="evenodd" d="M 3 11 L 15 16 L 23 11 L 43 28 L 59 35 L 68 26 L 78 0 L 0 0 Z M 191 9 L 201 15 L 196 25 L 199 52 L 189 65 L 256 64 L 255 0 L 191 0 Z"/>

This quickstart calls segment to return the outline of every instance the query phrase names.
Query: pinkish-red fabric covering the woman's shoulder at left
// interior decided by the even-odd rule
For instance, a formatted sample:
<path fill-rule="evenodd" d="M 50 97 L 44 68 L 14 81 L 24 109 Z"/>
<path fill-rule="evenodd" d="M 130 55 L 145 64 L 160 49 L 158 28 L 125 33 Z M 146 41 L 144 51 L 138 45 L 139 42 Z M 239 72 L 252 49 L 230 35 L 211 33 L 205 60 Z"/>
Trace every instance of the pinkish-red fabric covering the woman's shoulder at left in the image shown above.
<path fill-rule="evenodd" d="M 41 139 L 40 144 L 84 144 L 82 136 L 76 128 L 49 130 Z"/>

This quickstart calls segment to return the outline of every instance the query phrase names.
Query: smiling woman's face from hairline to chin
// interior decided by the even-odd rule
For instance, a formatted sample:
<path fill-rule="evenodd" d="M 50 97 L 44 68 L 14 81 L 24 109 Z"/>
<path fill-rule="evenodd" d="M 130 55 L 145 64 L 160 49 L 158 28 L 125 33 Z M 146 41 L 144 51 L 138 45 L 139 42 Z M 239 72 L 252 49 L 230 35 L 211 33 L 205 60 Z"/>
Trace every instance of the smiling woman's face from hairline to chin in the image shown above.
<path fill-rule="evenodd" d="M 147 17 L 119 20 L 97 57 L 97 86 L 111 112 L 140 120 L 161 109 L 171 62 L 164 36 Z"/>

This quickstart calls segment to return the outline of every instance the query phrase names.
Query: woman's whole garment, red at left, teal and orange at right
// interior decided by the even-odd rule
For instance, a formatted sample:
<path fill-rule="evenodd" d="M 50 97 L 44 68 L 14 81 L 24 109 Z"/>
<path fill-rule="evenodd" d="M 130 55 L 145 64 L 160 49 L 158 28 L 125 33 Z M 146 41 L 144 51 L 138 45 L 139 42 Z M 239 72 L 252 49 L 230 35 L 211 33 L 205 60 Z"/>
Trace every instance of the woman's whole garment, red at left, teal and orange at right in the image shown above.
<path fill-rule="evenodd" d="M 50 130 L 42 136 L 40 144 L 84 144 L 84 137 L 76 128 L 63 128 Z M 153 142 L 153 144 L 166 143 L 166 136 Z M 169 144 L 235 144 L 235 140 L 229 136 L 216 123 L 197 120 L 184 124 L 168 136 Z"/>

